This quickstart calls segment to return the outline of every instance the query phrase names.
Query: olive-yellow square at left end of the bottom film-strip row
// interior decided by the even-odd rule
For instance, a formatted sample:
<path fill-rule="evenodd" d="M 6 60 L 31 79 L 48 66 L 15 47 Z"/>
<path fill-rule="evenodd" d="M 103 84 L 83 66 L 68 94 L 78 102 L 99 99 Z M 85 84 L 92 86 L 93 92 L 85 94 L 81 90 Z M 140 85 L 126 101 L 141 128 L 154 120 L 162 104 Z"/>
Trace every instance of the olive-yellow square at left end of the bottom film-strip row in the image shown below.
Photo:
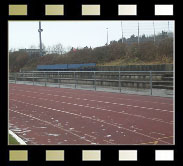
<path fill-rule="evenodd" d="M 10 150 L 9 151 L 10 161 L 28 161 L 27 150 Z"/>

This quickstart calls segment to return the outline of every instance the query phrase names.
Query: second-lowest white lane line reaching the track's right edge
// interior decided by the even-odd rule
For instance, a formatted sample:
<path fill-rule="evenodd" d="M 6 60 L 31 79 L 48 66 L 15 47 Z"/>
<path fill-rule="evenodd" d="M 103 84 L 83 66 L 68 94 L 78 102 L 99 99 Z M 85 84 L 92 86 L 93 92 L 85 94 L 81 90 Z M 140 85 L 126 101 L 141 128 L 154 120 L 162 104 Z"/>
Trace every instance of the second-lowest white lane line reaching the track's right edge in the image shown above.
<path fill-rule="evenodd" d="M 41 95 L 51 95 L 51 94 L 46 94 L 46 93 L 39 93 L 39 92 L 32 92 L 32 91 L 25 91 L 25 90 L 19 90 L 19 91 L 24 91 L 24 92 L 30 92 L 30 93 L 36 93 L 36 94 L 41 94 Z M 59 96 L 59 97 L 65 97 L 67 98 L 67 96 Z M 82 99 L 81 99 L 82 100 Z M 92 102 L 99 102 L 99 103 L 106 103 L 105 101 L 98 101 L 98 100 L 89 100 L 88 101 L 92 101 Z M 108 102 L 107 104 L 113 104 L 111 102 Z M 141 109 L 153 109 L 156 111 L 160 111 L 160 112 L 173 112 L 173 111 L 169 111 L 169 110 L 163 110 L 163 109 L 156 109 L 156 108 L 149 108 L 149 107 L 142 107 L 142 106 L 136 106 L 136 105 L 129 105 L 129 104 L 121 104 L 121 103 L 114 103 L 117 105 L 123 105 L 123 106 L 128 106 L 128 107 L 134 107 L 134 108 L 141 108 Z"/>

